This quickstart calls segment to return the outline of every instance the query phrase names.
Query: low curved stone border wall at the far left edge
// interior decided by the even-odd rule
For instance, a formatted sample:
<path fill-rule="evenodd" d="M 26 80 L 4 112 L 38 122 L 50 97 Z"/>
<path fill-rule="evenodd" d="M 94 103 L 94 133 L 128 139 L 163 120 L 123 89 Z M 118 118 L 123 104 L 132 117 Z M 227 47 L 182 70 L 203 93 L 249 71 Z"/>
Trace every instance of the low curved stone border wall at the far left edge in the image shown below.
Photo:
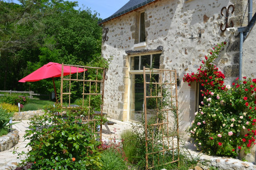
<path fill-rule="evenodd" d="M 18 143 L 19 135 L 17 130 L 13 130 L 7 135 L 0 136 L 0 152 L 9 150 Z"/>

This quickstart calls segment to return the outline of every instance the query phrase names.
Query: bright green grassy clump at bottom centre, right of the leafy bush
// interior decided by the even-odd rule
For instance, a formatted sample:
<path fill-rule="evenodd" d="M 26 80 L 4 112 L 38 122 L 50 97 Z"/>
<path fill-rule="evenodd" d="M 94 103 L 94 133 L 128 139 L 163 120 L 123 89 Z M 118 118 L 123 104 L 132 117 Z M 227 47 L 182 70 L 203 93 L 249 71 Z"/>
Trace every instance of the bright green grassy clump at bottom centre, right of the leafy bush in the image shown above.
<path fill-rule="evenodd" d="M 103 170 L 127 169 L 127 166 L 122 158 L 122 155 L 113 148 L 104 150 L 101 153 L 101 160 Z"/>

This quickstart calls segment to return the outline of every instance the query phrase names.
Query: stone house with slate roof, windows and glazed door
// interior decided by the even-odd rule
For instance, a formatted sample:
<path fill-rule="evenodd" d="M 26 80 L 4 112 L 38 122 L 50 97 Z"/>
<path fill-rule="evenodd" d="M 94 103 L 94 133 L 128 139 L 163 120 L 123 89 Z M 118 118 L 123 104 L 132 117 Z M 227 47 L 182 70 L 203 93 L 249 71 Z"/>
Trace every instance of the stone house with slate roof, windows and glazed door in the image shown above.
<path fill-rule="evenodd" d="M 102 56 L 113 56 L 106 74 L 104 112 L 119 120 L 136 119 L 143 104 L 143 86 L 134 80 L 140 79 L 143 66 L 154 61 L 157 68 L 177 70 L 181 80 L 178 88 L 181 131 L 185 131 L 198 109 L 200 87 L 197 83 L 189 87 L 182 78 L 187 72 L 196 72 L 204 56 L 221 41 L 226 41 L 227 47 L 217 66 L 226 76 L 225 83 L 231 84 L 239 76 L 239 32 L 221 31 L 226 17 L 225 9 L 223 16 L 221 10 L 233 5 L 233 13 L 232 7 L 229 8 L 229 26 L 231 20 L 234 28 L 247 26 L 247 3 L 247 0 L 131 0 L 103 19 L 99 23 Z M 255 7 L 253 2 L 254 12 Z M 243 45 L 242 75 L 255 78 L 256 28 L 250 27 L 249 31 L 245 31 L 249 34 Z"/>

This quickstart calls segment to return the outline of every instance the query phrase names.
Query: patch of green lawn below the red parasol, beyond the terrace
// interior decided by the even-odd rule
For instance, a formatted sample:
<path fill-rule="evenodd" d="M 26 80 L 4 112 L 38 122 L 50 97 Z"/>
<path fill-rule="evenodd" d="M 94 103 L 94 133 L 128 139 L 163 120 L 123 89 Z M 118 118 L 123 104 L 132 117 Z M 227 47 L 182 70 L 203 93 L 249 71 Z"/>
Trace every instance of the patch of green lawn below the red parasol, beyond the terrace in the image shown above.
<path fill-rule="evenodd" d="M 54 105 L 54 103 L 55 102 L 52 101 L 28 99 L 28 103 L 24 106 L 22 111 L 41 110 L 45 105 Z"/>

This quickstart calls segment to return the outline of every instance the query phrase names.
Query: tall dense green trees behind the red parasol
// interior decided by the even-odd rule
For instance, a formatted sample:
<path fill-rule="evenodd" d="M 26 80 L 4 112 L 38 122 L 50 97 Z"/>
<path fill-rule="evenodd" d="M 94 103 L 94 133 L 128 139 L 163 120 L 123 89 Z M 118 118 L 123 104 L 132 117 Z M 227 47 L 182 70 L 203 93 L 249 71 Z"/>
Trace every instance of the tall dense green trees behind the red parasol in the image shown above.
<path fill-rule="evenodd" d="M 75 10 L 77 2 L 63 0 L 20 3 L 0 1 L 0 89 L 49 93 L 53 91 L 51 79 L 17 81 L 50 61 L 78 65 L 101 56 L 97 13 Z M 55 83 L 59 89 L 59 79 Z"/>

